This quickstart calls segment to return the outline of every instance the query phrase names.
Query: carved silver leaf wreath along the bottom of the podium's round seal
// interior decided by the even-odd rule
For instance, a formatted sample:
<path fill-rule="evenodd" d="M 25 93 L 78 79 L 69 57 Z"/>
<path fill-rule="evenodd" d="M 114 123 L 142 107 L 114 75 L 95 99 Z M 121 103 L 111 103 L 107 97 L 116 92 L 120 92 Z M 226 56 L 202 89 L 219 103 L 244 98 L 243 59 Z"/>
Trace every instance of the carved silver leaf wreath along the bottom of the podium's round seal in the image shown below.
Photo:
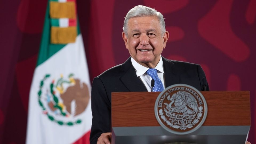
<path fill-rule="evenodd" d="M 193 127 L 195 124 L 197 124 L 199 122 L 199 119 L 202 117 L 202 111 L 203 110 L 203 107 L 202 106 L 199 106 L 198 107 L 198 113 L 195 114 L 196 115 L 196 118 L 189 122 L 189 123 L 186 123 L 186 124 L 181 124 L 181 125 L 175 125 L 173 124 L 173 122 L 177 121 L 177 119 L 171 119 L 169 118 L 169 120 L 171 120 L 172 122 L 170 122 L 164 115 L 163 113 L 163 109 L 160 109 L 158 111 L 158 114 L 159 116 L 161 117 L 161 119 L 163 119 L 164 122 L 166 122 L 167 125 L 169 125 L 170 127 L 174 128 L 174 129 L 181 129 L 181 130 L 186 130 L 187 128 L 191 128 Z"/>

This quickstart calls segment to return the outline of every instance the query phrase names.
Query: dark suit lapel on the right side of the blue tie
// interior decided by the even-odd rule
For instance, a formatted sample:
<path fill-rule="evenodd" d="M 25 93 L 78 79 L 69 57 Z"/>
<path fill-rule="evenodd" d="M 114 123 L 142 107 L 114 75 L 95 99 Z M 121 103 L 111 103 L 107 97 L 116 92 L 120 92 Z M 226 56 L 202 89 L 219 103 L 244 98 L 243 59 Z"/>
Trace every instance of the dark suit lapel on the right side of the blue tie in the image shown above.
<path fill-rule="evenodd" d="M 163 69 L 165 71 L 165 86 L 174 85 L 179 83 L 178 74 L 175 72 L 175 65 L 169 59 L 162 57 L 163 59 Z"/>

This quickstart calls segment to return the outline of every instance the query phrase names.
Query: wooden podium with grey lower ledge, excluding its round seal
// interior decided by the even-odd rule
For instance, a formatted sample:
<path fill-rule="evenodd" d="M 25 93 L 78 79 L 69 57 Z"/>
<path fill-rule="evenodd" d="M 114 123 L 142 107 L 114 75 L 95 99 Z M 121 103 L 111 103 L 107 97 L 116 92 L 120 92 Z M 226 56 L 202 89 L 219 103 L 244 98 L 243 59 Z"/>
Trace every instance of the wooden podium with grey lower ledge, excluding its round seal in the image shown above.
<path fill-rule="evenodd" d="M 112 93 L 112 144 L 243 144 L 250 130 L 249 91 L 201 91 L 208 114 L 203 125 L 186 134 L 172 134 L 155 118 L 160 92 Z"/>

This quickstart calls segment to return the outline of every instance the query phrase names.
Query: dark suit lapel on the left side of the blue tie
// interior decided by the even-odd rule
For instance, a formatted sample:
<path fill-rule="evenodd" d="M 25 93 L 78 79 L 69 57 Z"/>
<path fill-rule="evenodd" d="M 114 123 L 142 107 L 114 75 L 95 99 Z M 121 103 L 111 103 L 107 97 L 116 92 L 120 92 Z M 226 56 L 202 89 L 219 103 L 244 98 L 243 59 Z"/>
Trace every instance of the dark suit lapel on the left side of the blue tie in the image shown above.
<path fill-rule="evenodd" d="M 122 64 L 121 70 L 125 74 L 120 80 L 129 91 L 147 91 L 142 81 L 137 77 L 134 67 L 131 65 L 131 57 Z"/>

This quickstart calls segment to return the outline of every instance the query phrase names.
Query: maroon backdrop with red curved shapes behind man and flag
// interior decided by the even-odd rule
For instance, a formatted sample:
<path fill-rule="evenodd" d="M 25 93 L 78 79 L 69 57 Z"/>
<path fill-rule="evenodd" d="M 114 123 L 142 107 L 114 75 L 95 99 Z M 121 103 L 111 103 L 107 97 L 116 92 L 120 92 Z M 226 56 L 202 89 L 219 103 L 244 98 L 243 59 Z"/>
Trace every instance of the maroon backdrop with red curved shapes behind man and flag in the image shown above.
<path fill-rule="evenodd" d="M 29 89 L 47 0 L 0 1 L 0 143 L 25 143 Z M 198 63 L 211 90 L 250 90 L 255 139 L 256 0 L 77 0 L 91 80 L 124 62 L 126 13 L 136 5 L 160 11 L 170 33 L 162 55 Z"/>

